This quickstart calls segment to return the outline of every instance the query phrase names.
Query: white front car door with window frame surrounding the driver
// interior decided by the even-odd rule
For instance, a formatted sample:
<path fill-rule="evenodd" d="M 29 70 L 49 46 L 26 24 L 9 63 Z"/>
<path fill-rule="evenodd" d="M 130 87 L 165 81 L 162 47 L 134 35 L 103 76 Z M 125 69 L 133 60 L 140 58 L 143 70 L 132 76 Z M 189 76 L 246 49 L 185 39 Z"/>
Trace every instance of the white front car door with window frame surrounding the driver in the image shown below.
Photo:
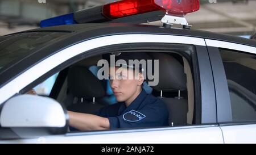
<path fill-rule="evenodd" d="M 0 89 L 1 103 L 11 98 L 24 87 L 35 82 L 49 72 L 59 72 L 59 66 L 71 65 L 83 56 L 82 54 L 96 55 L 97 48 L 108 49 L 112 45 L 119 49 L 119 45 L 126 44 L 170 44 L 193 45 L 193 77 L 195 82 L 195 119 L 193 125 L 181 127 L 147 128 L 147 129 L 117 129 L 113 131 L 93 131 L 67 133 L 60 136 L 46 136 L 43 139 L 52 143 L 223 143 L 222 132 L 216 119 L 216 102 L 213 85 L 213 76 L 204 39 L 197 37 L 158 35 L 158 34 L 119 34 L 97 37 L 71 45 L 47 57 L 32 66 Z M 95 51 L 94 51 L 95 50 Z M 104 49 L 105 50 L 105 49 Z M 90 52 L 89 52 L 90 51 Z M 101 51 L 102 52 L 102 51 Z M 60 58 L 61 57 L 61 58 Z M 72 61 L 71 61 L 72 60 Z M 67 63 L 68 62 L 68 63 Z M 65 65 L 64 65 L 65 64 Z M 31 76 L 33 75 L 33 76 Z M 22 139 L 14 141 L 1 141 L 1 143 L 34 143 L 40 139 Z"/>

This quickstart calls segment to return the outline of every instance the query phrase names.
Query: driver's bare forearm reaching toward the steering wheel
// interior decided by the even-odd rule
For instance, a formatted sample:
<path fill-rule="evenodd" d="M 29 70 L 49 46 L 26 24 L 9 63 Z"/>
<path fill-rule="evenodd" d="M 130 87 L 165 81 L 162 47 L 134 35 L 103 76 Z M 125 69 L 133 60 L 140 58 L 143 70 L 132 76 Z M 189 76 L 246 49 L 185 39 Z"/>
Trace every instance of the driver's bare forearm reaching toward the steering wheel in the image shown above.
<path fill-rule="evenodd" d="M 109 119 L 97 115 L 68 111 L 69 125 L 82 131 L 109 129 Z"/>

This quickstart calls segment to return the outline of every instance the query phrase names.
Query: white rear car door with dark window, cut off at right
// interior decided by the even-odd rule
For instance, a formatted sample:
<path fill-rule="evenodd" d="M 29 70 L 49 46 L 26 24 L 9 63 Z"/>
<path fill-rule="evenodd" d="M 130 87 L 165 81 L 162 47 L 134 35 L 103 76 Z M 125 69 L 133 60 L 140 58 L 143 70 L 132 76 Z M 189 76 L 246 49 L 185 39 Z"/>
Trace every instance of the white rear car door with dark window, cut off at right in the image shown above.
<path fill-rule="evenodd" d="M 205 40 L 224 143 L 256 143 L 256 47 Z"/>

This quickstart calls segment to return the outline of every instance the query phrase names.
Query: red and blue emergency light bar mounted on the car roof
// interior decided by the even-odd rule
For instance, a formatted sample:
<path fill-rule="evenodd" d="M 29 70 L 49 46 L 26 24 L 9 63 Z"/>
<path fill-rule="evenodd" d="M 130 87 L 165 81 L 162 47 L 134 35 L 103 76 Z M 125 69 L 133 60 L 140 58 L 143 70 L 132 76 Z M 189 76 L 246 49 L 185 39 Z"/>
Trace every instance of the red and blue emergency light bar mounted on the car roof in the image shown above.
<path fill-rule="evenodd" d="M 139 16 L 141 14 L 147 14 L 147 18 L 151 18 L 148 16 L 148 14 L 151 12 L 158 12 L 159 14 L 159 11 L 163 12 L 161 15 L 164 15 L 164 13 L 166 14 L 166 18 L 165 20 L 162 20 L 162 22 L 167 21 L 168 24 L 168 16 L 179 16 L 180 18 L 183 18 L 183 16 L 187 13 L 199 10 L 199 7 L 199 0 L 123 0 L 42 20 L 40 22 L 40 27 L 76 23 L 115 22 L 117 19 L 134 15 Z M 143 18 L 143 16 L 140 17 Z M 133 20 L 138 19 L 134 18 Z M 181 19 L 174 20 L 176 23 L 181 21 Z M 126 20 L 124 22 L 126 22 Z M 184 23 L 186 22 L 183 20 L 181 24 L 184 25 Z"/>

